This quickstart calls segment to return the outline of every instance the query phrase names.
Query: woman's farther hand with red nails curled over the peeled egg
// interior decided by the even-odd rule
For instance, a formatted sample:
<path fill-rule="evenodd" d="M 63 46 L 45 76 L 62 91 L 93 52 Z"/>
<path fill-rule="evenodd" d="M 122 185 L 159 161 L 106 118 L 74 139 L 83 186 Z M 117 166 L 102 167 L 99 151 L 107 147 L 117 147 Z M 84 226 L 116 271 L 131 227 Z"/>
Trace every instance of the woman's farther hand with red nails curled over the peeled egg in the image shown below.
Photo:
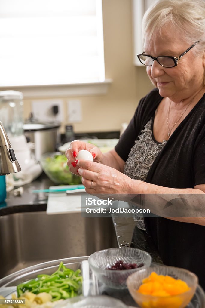
<path fill-rule="evenodd" d="M 79 140 L 72 141 L 70 144 L 70 148 L 66 150 L 66 157 L 68 159 L 67 165 L 70 169 L 70 172 L 76 175 L 79 175 L 79 167 L 77 165 L 78 161 L 76 160 L 76 156 L 78 155 L 78 152 L 80 150 L 89 151 L 92 154 L 94 161 L 97 163 L 99 163 L 103 158 L 102 152 L 95 145 Z"/>

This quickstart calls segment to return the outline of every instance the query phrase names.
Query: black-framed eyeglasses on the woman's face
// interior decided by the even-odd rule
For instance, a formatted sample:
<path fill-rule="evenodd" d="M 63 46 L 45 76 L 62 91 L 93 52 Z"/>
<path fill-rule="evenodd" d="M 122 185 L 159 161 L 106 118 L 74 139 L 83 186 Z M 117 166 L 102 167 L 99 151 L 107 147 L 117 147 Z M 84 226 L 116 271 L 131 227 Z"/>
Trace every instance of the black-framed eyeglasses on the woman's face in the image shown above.
<path fill-rule="evenodd" d="M 154 60 L 156 60 L 161 66 L 163 67 L 175 67 L 178 64 L 178 60 L 181 59 L 191 48 L 193 48 L 199 41 L 195 42 L 191 47 L 185 50 L 179 57 L 172 57 L 172 56 L 159 56 L 159 57 L 152 57 L 150 55 L 145 55 L 144 53 L 138 54 L 139 61 L 146 65 L 152 66 Z"/>

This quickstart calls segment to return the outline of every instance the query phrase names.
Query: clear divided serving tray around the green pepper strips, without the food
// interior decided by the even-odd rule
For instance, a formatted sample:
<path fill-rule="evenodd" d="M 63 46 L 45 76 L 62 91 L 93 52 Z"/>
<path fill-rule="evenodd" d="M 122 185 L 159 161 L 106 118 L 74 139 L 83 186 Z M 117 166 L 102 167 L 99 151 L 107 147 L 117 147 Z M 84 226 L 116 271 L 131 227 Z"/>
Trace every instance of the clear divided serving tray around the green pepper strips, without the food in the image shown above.
<path fill-rule="evenodd" d="M 38 274 L 52 274 L 58 269 L 59 263 L 62 261 L 66 267 L 72 270 L 81 270 L 83 277 L 82 282 L 82 295 L 108 295 L 120 299 L 127 306 L 138 307 L 132 299 L 128 290 L 116 290 L 106 287 L 101 282 L 98 282 L 95 275 L 90 270 L 88 264 L 88 257 L 66 258 L 54 261 L 48 261 L 27 267 L 13 274 L 10 274 L 0 279 L 0 295 L 5 298 L 10 298 L 12 293 L 16 292 L 16 286 L 19 283 L 26 282 L 30 279 L 36 278 Z M 203 289 L 198 285 L 195 295 L 186 308 L 204 308 L 205 307 L 205 294 Z"/>

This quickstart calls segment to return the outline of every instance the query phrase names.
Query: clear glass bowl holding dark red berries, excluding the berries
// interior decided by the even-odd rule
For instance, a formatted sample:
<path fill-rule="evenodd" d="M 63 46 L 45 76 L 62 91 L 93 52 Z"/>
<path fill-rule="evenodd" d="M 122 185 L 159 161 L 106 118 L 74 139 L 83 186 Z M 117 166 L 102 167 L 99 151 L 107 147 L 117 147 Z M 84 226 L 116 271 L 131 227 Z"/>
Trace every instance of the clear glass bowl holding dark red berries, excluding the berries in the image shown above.
<path fill-rule="evenodd" d="M 106 270 L 116 261 L 126 263 L 143 263 L 144 266 L 131 270 Z M 115 289 L 127 288 L 126 279 L 134 272 L 150 266 L 152 258 L 149 253 L 135 248 L 110 248 L 97 251 L 88 258 L 90 268 L 99 281 Z"/>

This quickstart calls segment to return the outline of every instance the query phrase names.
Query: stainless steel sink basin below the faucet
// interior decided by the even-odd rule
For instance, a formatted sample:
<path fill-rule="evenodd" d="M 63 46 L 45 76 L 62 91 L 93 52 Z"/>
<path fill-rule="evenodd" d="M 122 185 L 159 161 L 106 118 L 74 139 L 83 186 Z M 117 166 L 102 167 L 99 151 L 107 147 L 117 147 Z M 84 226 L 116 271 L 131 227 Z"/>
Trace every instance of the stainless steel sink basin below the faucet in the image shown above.
<path fill-rule="evenodd" d="M 0 278 L 30 265 L 118 247 L 109 217 L 14 213 L 0 217 Z"/>

